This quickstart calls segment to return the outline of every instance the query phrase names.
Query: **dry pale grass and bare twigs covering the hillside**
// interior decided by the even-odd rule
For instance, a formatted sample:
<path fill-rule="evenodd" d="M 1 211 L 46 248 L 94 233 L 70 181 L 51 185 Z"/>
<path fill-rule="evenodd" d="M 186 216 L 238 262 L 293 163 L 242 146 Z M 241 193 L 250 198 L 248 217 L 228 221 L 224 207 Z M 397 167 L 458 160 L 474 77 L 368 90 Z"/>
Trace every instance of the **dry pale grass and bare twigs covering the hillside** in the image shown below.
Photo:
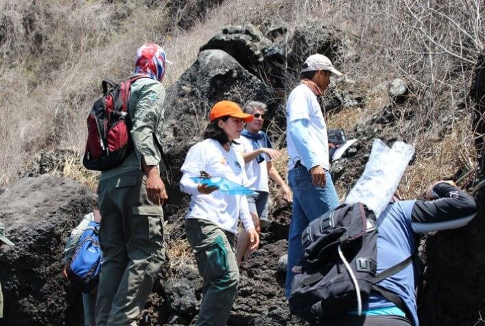
<path fill-rule="evenodd" d="M 458 166 L 473 169 L 471 143 L 477 135 L 469 115 L 454 122 L 444 139 L 432 140 L 443 127 L 443 112 L 469 106 L 471 69 L 485 43 L 483 0 L 226 0 L 206 21 L 170 35 L 162 27 L 167 23 L 162 5 L 113 2 L 0 1 L 0 185 L 14 181 L 18 167 L 40 149 L 82 153 L 85 115 L 100 80 L 128 75 L 142 43 L 160 43 L 175 62 L 168 69 L 169 85 L 223 25 L 246 22 L 283 22 L 291 32 L 300 22 L 324 21 L 358 54 L 357 61 L 340 58 L 338 67 L 360 92 L 372 93 L 396 76 L 410 82 L 410 105 L 418 110 L 405 133 L 419 155 L 405 176 L 405 193 L 421 193 L 423 181 L 452 174 Z M 362 109 L 330 115 L 329 124 L 350 129 L 377 106 L 379 98 L 369 97 Z M 67 174 L 84 179 L 74 162 L 68 166 Z"/>

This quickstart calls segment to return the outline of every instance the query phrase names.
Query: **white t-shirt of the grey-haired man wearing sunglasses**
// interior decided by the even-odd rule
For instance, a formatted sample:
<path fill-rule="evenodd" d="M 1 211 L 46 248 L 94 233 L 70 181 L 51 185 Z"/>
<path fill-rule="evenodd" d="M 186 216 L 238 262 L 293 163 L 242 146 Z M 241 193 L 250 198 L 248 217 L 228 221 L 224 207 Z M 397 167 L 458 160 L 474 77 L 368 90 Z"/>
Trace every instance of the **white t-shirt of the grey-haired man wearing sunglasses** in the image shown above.
<path fill-rule="evenodd" d="M 239 145 L 233 145 L 236 151 L 248 153 L 254 150 L 252 148 L 252 139 L 241 136 L 241 138 L 236 139 L 235 141 L 239 143 Z M 261 147 L 265 147 L 265 144 L 263 144 L 263 139 L 259 139 L 258 143 L 261 145 Z M 263 154 L 263 156 L 264 161 L 261 163 L 258 163 L 257 159 L 255 158 L 244 165 L 246 176 L 248 176 L 247 187 L 251 190 L 270 192 L 270 188 L 268 187 L 267 163 L 271 160 L 268 155 Z"/>

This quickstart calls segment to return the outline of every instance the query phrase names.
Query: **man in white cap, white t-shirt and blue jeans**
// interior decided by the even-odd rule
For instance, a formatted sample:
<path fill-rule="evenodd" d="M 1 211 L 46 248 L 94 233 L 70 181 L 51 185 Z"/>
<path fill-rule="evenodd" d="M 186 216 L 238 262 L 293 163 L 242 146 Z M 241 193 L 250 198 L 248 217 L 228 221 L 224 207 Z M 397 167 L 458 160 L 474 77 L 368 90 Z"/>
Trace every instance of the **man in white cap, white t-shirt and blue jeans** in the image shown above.
<path fill-rule="evenodd" d="M 293 191 L 292 223 L 288 236 L 288 264 L 285 294 L 291 292 L 294 271 L 302 255 L 301 235 L 309 222 L 338 206 L 329 174 L 327 126 L 318 97 L 331 76 L 341 76 L 322 54 L 305 60 L 301 82 L 289 94 L 286 104 L 288 181 Z"/>

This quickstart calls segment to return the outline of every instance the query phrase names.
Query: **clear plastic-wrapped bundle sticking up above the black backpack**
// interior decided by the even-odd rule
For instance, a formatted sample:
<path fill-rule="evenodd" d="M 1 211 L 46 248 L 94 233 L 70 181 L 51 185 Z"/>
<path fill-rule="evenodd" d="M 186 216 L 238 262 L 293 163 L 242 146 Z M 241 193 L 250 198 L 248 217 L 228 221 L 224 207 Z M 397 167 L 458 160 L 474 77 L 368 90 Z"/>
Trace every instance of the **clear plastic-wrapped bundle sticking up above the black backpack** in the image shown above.
<path fill-rule="evenodd" d="M 381 139 L 374 139 L 364 174 L 348 194 L 345 202 L 364 203 L 380 216 L 394 195 L 414 154 L 414 147 L 397 141 L 389 148 Z"/>

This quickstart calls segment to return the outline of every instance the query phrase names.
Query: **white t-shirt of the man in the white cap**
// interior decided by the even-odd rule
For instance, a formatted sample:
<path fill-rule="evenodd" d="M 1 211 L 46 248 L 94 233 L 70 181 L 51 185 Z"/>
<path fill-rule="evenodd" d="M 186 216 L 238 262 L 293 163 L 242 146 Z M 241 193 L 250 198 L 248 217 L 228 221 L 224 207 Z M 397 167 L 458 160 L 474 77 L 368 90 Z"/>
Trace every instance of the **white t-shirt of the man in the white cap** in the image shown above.
<path fill-rule="evenodd" d="M 323 119 L 320 104 L 314 92 L 308 86 L 300 84 L 289 94 L 286 104 L 286 142 L 288 146 L 288 170 L 291 170 L 297 161 L 301 161 L 307 169 L 311 169 L 309 163 L 304 162 L 294 145 L 294 140 L 289 133 L 289 125 L 292 121 L 307 119 L 309 121 L 309 132 L 312 145 L 316 148 L 317 161 L 325 170 L 329 170 L 329 140 L 327 136 L 327 125 Z"/>

